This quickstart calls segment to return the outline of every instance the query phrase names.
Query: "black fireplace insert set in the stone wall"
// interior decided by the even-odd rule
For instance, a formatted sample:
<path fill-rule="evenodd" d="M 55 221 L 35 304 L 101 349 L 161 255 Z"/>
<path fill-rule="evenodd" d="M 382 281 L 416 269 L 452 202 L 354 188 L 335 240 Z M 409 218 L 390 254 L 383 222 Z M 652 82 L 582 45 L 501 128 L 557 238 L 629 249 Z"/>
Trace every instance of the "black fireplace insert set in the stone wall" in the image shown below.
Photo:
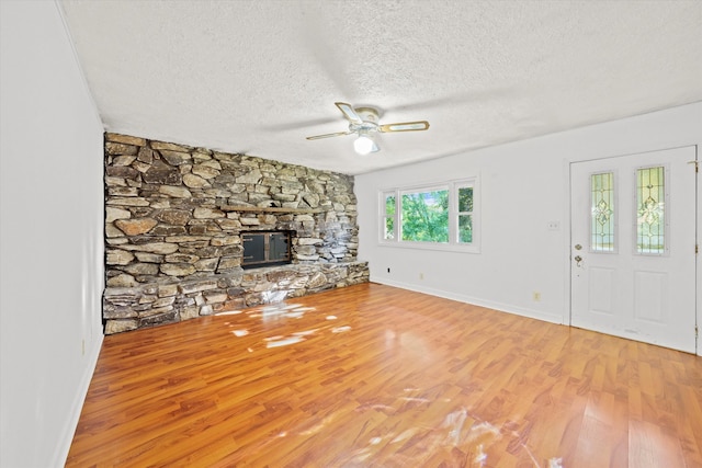
<path fill-rule="evenodd" d="M 249 231 L 241 233 L 241 267 L 284 265 L 291 262 L 291 231 Z"/>

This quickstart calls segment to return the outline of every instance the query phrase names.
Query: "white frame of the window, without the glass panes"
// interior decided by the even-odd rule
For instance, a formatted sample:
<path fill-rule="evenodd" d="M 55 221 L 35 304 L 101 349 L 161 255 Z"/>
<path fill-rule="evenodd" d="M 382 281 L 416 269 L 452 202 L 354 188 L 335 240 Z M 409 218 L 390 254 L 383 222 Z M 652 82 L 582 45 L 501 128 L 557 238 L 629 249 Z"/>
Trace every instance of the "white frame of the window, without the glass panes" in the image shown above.
<path fill-rule="evenodd" d="M 473 222 L 473 241 L 458 242 L 458 216 L 468 214 L 458 212 L 458 190 L 464 187 L 473 187 L 473 212 L 469 213 Z M 448 242 L 427 242 L 427 241 L 408 241 L 401 239 L 401 197 L 403 194 L 417 192 L 432 192 L 439 190 L 449 191 L 449 241 Z M 387 196 L 395 196 L 395 214 L 393 218 L 394 238 L 385 238 L 386 219 L 388 215 L 385 209 L 385 201 Z M 444 250 L 452 252 L 479 253 L 480 252 L 480 205 L 479 205 L 479 184 L 478 178 L 472 176 L 461 180 L 427 183 L 422 185 L 401 186 L 393 189 L 383 189 L 378 192 L 378 243 L 383 247 L 403 248 L 403 249 L 428 249 Z"/>

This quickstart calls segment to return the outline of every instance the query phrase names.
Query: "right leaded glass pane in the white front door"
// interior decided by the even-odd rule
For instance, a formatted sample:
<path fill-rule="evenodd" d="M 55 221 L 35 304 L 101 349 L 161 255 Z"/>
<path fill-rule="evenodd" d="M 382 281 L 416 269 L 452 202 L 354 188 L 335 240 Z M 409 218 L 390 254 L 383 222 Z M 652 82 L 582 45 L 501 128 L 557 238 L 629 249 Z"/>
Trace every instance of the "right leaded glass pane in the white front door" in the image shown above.
<path fill-rule="evenodd" d="M 636 170 L 636 252 L 661 254 L 666 249 L 665 168 Z"/>

